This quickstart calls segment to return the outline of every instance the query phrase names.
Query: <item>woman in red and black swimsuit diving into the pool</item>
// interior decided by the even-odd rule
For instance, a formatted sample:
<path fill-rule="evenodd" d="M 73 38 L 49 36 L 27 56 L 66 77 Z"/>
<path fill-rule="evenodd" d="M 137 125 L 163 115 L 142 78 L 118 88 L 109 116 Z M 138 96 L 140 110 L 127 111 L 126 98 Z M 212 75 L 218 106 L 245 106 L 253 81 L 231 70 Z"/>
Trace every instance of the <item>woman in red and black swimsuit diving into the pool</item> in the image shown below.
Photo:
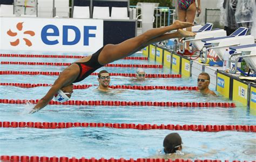
<path fill-rule="evenodd" d="M 33 107 L 30 113 L 43 109 L 52 98 L 58 102 L 66 102 L 73 93 L 73 83 L 80 82 L 92 72 L 115 60 L 130 56 L 145 46 L 171 38 L 193 37 L 194 32 L 182 30 L 193 26 L 193 23 L 175 21 L 170 26 L 151 29 L 134 38 L 119 44 L 107 44 L 90 56 L 81 58 L 64 69 L 55 80 L 50 90 Z M 176 32 L 168 33 L 172 30 Z"/>

